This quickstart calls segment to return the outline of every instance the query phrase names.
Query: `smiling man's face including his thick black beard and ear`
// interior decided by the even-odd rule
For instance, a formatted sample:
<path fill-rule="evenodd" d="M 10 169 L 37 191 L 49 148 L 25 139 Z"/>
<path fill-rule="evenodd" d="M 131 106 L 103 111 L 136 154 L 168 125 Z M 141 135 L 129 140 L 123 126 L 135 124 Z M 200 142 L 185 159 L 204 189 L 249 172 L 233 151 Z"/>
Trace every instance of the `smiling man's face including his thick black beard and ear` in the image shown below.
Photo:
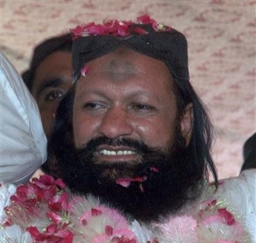
<path fill-rule="evenodd" d="M 73 149 L 60 155 L 64 181 L 137 219 L 177 210 L 201 175 L 190 172 L 191 113 L 178 114 L 167 66 L 132 50 L 87 65 L 75 86 Z"/>

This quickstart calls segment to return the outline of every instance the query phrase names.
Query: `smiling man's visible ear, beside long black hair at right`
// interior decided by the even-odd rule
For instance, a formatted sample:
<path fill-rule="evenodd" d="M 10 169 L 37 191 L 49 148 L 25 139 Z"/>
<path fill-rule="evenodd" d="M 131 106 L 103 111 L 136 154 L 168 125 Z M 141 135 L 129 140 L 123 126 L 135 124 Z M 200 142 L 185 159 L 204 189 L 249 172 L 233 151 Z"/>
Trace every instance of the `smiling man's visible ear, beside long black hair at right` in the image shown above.
<path fill-rule="evenodd" d="M 186 146 L 188 146 L 189 141 L 191 140 L 192 125 L 193 124 L 193 104 L 189 103 L 186 106 L 184 115 L 181 118 L 180 128 L 182 137 L 186 141 Z"/>

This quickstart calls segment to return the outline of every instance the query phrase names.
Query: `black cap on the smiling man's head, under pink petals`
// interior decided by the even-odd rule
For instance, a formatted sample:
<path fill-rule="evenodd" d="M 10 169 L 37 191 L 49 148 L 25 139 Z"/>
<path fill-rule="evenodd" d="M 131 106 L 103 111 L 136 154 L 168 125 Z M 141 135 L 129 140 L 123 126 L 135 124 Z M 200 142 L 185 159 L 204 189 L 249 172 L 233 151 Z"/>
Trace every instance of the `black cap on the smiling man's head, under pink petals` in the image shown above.
<path fill-rule="evenodd" d="M 158 30 L 151 24 L 130 23 L 127 28 L 128 34 L 124 36 L 119 36 L 117 32 L 76 36 L 72 46 L 74 81 L 80 77 L 81 69 L 88 61 L 108 54 L 122 44 L 164 61 L 173 77 L 189 81 L 187 41 L 184 34 L 169 27 L 167 30 Z"/>

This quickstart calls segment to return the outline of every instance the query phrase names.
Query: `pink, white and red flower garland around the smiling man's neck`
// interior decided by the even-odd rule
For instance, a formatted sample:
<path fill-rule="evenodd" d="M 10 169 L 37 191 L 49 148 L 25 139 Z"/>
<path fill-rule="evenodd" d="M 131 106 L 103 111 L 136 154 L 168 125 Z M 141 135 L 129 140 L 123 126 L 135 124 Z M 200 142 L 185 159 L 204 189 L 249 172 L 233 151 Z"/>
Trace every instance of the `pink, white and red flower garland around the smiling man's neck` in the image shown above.
<path fill-rule="evenodd" d="M 238 217 L 226 209 L 211 187 L 197 202 L 150 225 L 130 222 L 95 197 L 74 196 L 64 188 L 61 179 L 49 175 L 19 186 L 15 195 L 1 186 L 0 242 L 250 242 Z"/>

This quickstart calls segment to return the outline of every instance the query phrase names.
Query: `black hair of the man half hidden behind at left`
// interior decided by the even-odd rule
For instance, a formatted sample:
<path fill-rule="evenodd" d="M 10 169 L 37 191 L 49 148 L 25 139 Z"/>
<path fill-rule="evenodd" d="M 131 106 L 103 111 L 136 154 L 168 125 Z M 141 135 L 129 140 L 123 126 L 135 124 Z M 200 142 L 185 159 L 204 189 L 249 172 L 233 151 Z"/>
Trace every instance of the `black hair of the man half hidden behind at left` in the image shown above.
<path fill-rule="evenodd" d="M 22 73 L 22 78 L 27 85 L 27 88 L 29 88 L 30 91 L 32 90 L 36 68 L 47 56 L 54 53 L 55 51 L 68 51 L 71 53 L 71 50 L 72 37 L 69 33 L 44 40 L 38 46 L 36 46 L 34 48 L 29 69 Z"/>

